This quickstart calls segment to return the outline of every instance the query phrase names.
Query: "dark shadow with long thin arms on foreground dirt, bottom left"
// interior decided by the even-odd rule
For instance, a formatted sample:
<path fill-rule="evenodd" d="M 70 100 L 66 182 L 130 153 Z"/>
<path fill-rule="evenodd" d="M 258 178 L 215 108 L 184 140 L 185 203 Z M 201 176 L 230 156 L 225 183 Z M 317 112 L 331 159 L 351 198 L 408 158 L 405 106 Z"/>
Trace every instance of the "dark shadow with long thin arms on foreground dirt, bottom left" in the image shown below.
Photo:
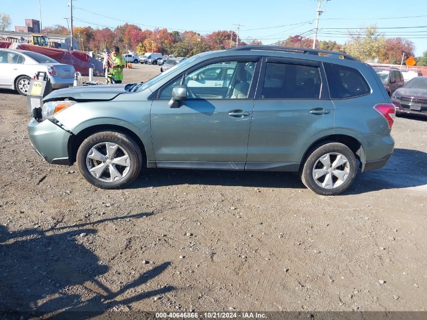
<path fill-rule="evenodd" d="M 90 224 L 147 215 L 150 213 L 102 219 Z M 169 267 L 169 261 L 145 271 L 118 291 L 110 290 L 98 281 L 110 266 L 101 263 L 100 258 L 83 244 L 83 239 L 97 234 L 93 227 L 84 228 L 86 225 L 46 230 L 28 228 L 14 232 L 0 225 L 0 318 L 19 319 L 35 315 L 65 319 L 76 318 L 78 312 L 90 312 L 94 316 L 174 290 L 174 287 L 166 286 L 129 294 L 134 292 L 132 289 L 153 281 Z M 73 230 L 67 231 L 67 228 Z M 85 233 L 84 238 L 81 233 Z M 70 290 L 76 285 L 83 289 L 74 287 Z M 121 298 L 124 293 L 124 298 Z"/>

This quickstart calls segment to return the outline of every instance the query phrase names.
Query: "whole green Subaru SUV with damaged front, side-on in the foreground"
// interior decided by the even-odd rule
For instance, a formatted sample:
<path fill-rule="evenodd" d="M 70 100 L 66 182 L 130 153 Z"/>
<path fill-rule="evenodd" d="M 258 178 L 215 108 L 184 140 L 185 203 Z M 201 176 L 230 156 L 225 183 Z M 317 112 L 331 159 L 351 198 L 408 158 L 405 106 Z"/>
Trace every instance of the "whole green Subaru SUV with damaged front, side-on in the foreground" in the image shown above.
<path fill-rule="evenodd" d="M 28 131 L 46 161 L 77 161 L 100 188 L 125 187 L 144 166 L 295 171 L 315 193 L 336 195 L 358 166 L 389 160 L 394 117 L 366 63 L 246 45 L 193 56 L 145 83 L 57 90 Z"/>

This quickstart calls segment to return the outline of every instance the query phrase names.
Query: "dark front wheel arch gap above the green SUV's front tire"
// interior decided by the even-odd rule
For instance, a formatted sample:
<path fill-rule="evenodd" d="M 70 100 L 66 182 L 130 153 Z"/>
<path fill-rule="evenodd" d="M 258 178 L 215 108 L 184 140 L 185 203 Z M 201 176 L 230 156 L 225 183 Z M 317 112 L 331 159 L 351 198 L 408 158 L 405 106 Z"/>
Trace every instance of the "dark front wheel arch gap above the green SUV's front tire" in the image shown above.
<path fill-rule="evenodd" d="M 97 124 L 92 125 L 83 130 L 79 131 L 77 134 L 72 134 L 70 139 L 68 140 L 68 157 L 71 164 L 76 162 L 77 150 L 80 147 L 81 143 L 91 134 L 99 132 L 99 131 L 117 131 L 120 133 L 124 133 L 129 135 L 141 149 L 141 153 L 143 154 L 143 164 L 147 164 L 147 150 L 143 143 L 143 141 L 139 138 L 139 136 L 133 132 L 132 130 L 116 125 L 116 124 Z"/>

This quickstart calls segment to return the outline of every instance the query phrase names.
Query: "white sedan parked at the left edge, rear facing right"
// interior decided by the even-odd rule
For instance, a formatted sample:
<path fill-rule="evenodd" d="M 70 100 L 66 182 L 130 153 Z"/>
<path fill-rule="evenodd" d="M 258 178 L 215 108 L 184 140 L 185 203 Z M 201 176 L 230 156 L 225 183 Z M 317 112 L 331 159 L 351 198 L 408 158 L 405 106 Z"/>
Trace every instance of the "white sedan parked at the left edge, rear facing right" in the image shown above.
<path fill-rule="evenodd" d="M 75 69 L 71 65 L 36 52 L 0 49 L 0 88 L 17 90 L 26 96 L 30 80 L 38 71 L 49 74 L 54 89 L 73 85 Z"/>

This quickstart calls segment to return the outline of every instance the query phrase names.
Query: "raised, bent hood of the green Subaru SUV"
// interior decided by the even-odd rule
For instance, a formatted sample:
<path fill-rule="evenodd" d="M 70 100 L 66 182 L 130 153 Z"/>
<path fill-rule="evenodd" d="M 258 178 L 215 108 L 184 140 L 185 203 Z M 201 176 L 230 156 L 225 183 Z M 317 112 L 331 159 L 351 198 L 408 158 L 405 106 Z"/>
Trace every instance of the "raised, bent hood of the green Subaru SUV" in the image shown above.
<path fill-rule="evenodd" d="M 54 90 L 43 98 L 43 101 L 58 100 L 58 98 L 70 98 L 76 101 L 106 101 L 112 100 L 120 94 L 127 92 L 126 84 L 103 84 L 69 87 Z"/>

